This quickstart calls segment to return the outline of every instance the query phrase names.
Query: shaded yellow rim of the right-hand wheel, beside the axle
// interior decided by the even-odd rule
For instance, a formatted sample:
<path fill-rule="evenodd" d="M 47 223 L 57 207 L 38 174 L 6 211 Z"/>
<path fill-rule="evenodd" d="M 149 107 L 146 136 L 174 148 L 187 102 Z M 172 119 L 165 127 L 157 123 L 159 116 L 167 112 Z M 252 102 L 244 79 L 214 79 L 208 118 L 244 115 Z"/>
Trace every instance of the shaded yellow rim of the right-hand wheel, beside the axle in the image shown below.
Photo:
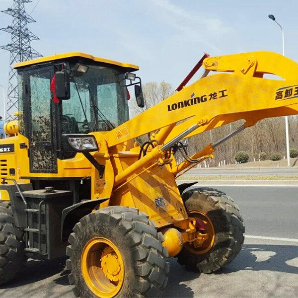
<path fill-rule="evenodd" d="M 192 218 L 199 218 L 206 225 L 207 230 L 205 235 L 205 240 L 201 243 L 200 246 L 196 246 L 195 242 L 185 243 L 184 247 L 187 251 L 192 254 L 205 254 L 207 253 L 213 246 L 215 240 L 215 230 L 214 225 L 207 214 L 199 210 L 190 210 L 188 212 L 188 216 Z"/>

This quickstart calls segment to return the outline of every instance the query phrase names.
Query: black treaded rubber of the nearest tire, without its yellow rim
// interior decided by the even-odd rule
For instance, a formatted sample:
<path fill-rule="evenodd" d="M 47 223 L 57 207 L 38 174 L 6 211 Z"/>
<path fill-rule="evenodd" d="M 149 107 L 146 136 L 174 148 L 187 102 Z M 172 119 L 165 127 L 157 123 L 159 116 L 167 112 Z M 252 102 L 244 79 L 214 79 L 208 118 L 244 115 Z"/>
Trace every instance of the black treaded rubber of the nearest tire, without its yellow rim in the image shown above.
<path fill-rule="evenodd" d="M 138 209 L 113 206 L 106 207 L 83 217 L 75 224 L 69 237 L 70 245 L 66 262 L 70 284 L 74 285 L 74 295 L 95 297 L 86 286 L 80 268 L 80 254 L 84 247 L 83 234 L 91 237 L 110 235 L 112 242 L 119 244 L 126 270 L 123 286 L 117 297 L 160 297 L 167 284 L 169 262 L 167 250 L 162 246 L 163 236 L 156 225 Z M 93 235 L 93 236 L 92 236 Z M 88 237 L 88 236 L 85 236 Z M 106 236 L 107 237 L 107 236 Z M 113 239 L 114 237 L 114 239 Z M 121 242 L 119 242 L 119 239 Z"/>

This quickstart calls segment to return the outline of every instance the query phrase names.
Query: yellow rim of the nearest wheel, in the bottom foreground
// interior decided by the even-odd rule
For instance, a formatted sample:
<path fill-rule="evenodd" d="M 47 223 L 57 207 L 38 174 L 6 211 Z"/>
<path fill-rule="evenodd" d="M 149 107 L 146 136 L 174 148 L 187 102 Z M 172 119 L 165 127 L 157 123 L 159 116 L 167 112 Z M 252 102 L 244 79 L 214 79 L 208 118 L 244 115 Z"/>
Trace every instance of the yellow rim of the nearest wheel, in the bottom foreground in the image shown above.
<path fill-rule="evenodd" d="M 124 280 L 124 263 L 116 245 L 104 237 L 89 240 L 81 255 L 81 271 L 88 288 L 97 297 L 116 296 Z"/>

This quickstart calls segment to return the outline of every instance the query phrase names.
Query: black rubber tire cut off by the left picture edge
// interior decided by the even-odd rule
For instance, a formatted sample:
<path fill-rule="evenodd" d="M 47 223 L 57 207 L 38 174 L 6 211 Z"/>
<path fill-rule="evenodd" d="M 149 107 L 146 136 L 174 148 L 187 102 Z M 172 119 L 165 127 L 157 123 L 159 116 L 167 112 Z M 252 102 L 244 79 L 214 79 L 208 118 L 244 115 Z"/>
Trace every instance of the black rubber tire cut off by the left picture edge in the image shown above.
<path fill-rule="evenodd" d="M 0 285 L 13 280 L 24 267 L 23 235 L 14 225 L 9 201 L 0 201 Z"/>

